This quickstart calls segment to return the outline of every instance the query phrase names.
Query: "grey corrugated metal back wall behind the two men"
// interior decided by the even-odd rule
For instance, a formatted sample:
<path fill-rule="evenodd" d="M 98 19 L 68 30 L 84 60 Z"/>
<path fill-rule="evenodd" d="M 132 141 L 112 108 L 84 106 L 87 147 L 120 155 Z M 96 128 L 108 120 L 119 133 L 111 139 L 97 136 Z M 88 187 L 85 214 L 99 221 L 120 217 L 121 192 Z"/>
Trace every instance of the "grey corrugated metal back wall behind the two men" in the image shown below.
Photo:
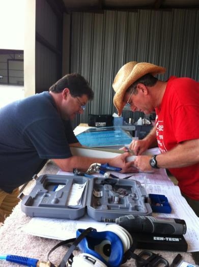
<path fill-rule="evenodd" d="M 185 9 L 72 13 L 71 70 L 81 73 L 94 90 L 94 100 L 74 126 L 88 122 L 88 114 L 112 114 L 113 79 L 129 61 L 150 62 L 170 75 L 199 80 L 199 11 Z M 140 112 L 124 111 L 134 121 Z"/>

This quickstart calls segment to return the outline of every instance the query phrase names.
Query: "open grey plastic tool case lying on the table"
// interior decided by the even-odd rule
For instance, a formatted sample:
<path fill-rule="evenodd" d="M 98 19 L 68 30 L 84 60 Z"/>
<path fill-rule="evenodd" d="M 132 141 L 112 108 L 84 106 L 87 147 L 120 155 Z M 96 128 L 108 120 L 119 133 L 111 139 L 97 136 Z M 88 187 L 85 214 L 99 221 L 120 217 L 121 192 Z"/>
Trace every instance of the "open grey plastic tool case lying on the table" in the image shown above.
<path fill-rule="evenodd" d="M 152 215 L 145 188 L 134 180 L 44 174 L 36 177 L 29 195 L 19 197 L 21 210 L 31 217 L 75 220 L 87 213 L 107 221 L 127 214 Z"/>

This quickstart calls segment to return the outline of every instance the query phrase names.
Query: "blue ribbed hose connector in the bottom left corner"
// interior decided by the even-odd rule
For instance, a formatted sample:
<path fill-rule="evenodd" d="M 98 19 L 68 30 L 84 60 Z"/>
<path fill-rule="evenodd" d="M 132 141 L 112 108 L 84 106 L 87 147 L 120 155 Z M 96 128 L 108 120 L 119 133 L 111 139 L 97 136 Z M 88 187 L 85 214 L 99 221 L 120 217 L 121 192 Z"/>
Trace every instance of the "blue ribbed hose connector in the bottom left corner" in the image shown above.
<path fill-rule="evenodd" d="M 17 255 L 6 255 L 6 256 L 0 255 L 0 259 L 5 259 L 7 261 L 19 263 L 30 267 L 37 267 L 37 262 L 39 261 L 38 259 L 22 257 Z"/>

